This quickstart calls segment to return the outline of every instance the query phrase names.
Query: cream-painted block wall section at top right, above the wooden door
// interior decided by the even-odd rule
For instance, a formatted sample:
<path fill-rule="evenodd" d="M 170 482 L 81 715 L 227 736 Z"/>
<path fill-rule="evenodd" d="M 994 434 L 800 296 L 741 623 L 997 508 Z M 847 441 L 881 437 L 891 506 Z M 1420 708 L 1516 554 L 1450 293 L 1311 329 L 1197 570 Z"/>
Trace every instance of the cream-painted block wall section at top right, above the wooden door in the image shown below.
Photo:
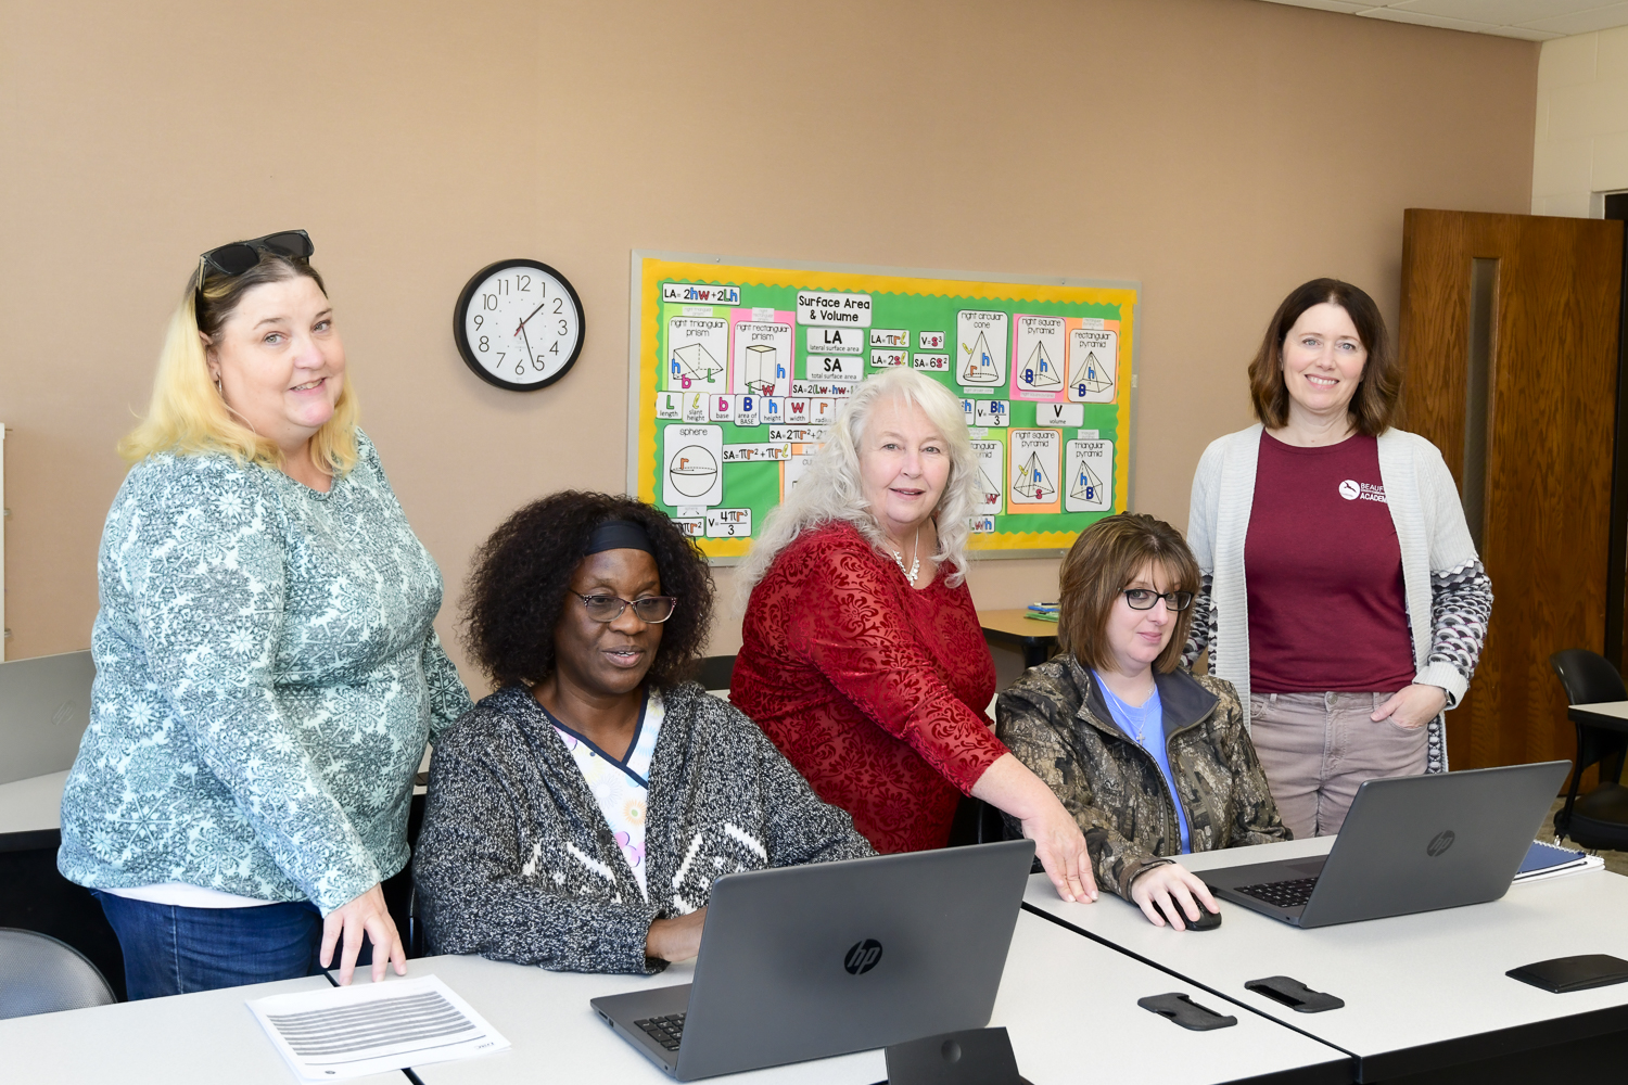
<path fill-rule="evenodd" d="M 1543 42 L 1532 213 L 1600 218 L 1628 189 L 1628 26 Z"/>

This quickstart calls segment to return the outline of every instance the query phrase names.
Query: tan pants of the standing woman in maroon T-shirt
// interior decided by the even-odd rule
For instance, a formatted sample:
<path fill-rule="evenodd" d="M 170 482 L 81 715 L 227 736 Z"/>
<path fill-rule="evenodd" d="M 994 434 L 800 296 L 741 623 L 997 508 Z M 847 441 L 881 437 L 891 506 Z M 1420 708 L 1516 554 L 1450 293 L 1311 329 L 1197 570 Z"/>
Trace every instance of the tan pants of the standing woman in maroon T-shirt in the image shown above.
<path fill-rule="evenodd" d="M 1249 735 L 1296 838 L 1338 833 L 1356 789 L 1424 773 L 1424 727 L 1369 719 L 1390 693 L 1257 693 Z"/>

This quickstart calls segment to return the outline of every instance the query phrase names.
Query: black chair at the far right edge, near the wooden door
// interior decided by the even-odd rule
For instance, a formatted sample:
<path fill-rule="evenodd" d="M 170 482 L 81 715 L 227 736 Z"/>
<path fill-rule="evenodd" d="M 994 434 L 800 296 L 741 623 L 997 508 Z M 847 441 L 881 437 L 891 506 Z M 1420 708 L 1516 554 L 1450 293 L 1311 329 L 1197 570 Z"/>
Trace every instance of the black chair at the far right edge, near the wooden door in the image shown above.
<path fill-rule="evenodd" d="M 1568 704 L 1628 701 L 1623 677 L 1604 656 L 1586 647 L 1555 652 L 1548 665 L 1566 690 Z M 1628 787 L 1621 786 L 1628 734 L 1595 727 L 1569 711 L 1566 716 L 1578 729 L 1578 760 L 1571 768 L 1566 805 L 1555 815 L 1555 834 L 1569 836 L 1584 848 L 1628 849 Z M 1591 765 L 1600 766 L 1600 786 L 1579 797 L 1582 773 Z"/>

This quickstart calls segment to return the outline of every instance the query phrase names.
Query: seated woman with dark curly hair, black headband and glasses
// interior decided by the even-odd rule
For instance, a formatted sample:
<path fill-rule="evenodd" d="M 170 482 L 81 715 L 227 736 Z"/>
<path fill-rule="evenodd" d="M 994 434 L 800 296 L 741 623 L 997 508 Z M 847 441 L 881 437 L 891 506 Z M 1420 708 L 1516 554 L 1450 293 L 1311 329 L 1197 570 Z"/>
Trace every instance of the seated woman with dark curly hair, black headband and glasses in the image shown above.
<path fill-rule="evenodd" d="M 711 600 L 705 558 L 627 498 L 557 493 L 487 540 L 467 643 L 500 688 L 430 765 L 431 952 L 653 973 L 700 948 L 720 875 L 871 854 L 751 719 L 681 682 Z"/>

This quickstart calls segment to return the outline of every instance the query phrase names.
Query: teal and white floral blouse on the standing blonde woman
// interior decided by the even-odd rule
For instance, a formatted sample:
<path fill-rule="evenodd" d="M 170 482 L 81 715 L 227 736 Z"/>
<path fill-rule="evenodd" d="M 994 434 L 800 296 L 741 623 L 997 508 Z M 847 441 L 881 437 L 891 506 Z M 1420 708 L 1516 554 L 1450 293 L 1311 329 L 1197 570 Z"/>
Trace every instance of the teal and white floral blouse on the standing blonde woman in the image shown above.
<path fill-rule="evenodd" d="M 441 573 L 360 433 L 358 452 L 329 493 L 226 455 L 130 470 L 98 558 L 67 878 L 326 916 L 407 864 L 425 742 L 470 701 L 430 626 Z"/>

